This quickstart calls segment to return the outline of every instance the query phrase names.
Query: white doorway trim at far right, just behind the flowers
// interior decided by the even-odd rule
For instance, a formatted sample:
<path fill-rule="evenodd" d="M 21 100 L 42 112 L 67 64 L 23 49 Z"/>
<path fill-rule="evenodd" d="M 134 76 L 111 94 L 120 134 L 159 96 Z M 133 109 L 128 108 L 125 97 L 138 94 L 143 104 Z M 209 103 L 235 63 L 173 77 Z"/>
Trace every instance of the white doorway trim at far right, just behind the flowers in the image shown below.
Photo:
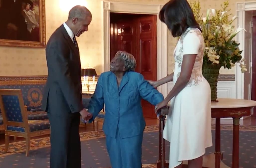
<path fill-rule="evenodd" d="M 237 27 L 245 28 L 245 11 L 249 10 L 256 10 L 256 2 L 242 2 L 236 3 L 236 13 L 237 13 Z M 239 48 L 241 50 L 245 50 L 244 43 L 245 43 L 245 33 L 244 31 L 240 31 L 237 36 L 236 40 L 240 42 Z M 244 58 L 242 52 L 242 58 Z M 241 73 L 240 67 L 236 64 L 236 98 L 243 99 L 244 96 L 244 74 Z"/>

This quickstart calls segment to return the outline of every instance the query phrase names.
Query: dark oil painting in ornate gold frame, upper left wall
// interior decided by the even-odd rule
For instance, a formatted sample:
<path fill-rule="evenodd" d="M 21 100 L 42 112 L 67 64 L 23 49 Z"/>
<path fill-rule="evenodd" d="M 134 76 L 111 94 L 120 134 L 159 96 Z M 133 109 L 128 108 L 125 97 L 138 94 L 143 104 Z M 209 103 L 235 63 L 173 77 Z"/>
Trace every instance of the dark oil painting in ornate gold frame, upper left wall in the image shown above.
<path fill-rule="evenodd" d="M 0 0 L 0 45 L 45 47 L 45 0 Z"/>

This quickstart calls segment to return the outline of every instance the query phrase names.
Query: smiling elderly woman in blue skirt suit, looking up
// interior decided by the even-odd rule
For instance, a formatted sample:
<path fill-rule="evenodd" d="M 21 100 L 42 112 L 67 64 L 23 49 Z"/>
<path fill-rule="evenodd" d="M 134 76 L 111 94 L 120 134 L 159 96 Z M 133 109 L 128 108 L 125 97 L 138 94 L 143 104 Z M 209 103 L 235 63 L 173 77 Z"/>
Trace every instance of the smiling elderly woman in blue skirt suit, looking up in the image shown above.
<path fill-rule="evenodd" d="M 132 54 L 118 51 L 111 60 L 110 71 L 100 75 L 88 107 L 89 123 L 105 104 L 103 131 L 112 168 L 142 167 L 142 140 L 146 126 L 141 99 L 153 105 L 164 100 L 142 74 L 134 72 Z M 163 108 L 165 112 L 167 107 Z M 162 113 L 162 111 L 161 111 Z"/>

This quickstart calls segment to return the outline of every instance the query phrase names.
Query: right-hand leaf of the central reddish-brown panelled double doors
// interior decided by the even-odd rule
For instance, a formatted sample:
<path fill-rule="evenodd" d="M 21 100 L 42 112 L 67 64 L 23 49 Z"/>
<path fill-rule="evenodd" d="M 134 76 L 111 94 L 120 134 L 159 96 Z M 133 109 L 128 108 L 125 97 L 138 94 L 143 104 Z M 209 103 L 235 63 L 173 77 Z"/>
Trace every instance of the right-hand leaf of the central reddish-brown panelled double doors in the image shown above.
<path fill-rule="evenodd" d="M 137 19 L 137 66 L 146 80 L 157 80 L 156 15 L 140 16 Z M 156 118 L 154 106 L 142 100 L 143 115 Z"/>

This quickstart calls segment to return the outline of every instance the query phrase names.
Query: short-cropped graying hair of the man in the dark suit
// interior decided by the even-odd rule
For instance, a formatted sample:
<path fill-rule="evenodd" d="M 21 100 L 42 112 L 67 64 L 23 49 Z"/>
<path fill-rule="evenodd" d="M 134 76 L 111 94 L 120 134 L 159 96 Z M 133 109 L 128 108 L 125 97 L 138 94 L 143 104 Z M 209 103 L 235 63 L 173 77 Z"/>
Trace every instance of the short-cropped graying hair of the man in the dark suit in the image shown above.
<path fill-rule="evenodd" d="M 85 19 L 87 16 L 92 16 L 90 10 L 85 6 L 77 5 L 70 9 L 68 20 L 72 20 L 73 18 Z"/>

